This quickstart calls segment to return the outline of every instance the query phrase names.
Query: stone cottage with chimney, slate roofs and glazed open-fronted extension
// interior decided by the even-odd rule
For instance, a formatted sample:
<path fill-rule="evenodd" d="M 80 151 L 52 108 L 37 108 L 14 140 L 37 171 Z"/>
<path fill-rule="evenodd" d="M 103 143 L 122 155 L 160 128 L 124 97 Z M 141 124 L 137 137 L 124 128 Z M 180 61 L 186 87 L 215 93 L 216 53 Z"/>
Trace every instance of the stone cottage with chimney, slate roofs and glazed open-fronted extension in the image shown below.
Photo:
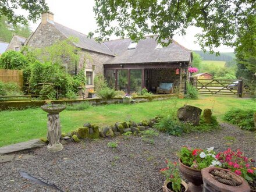
<path fill-rule="evenodd" d="M 27 38 L 25 45 L 41 48 L 69 37 L 78 38 L 79 42 L 73 44 L 81 49 L 79 63 L 74 65 L 66 62 L 64 65 L 67 72 L 74 74 L 86 64 L 87 89 L 94 88 L 95 74 L 104 74 L 109 86 L 126 93 L 144 87 L 154 92 L 159 83 L 173 83 L 180 91 L 186 87 L 192 53 L 176 41 L 168 47 L 162 47 L 157 44 L 157 36 L 154 35 L 139 42 L 122 39 L 99 44 L 85 34 L 54 22 L 54 14 L 51 12 L 42 13 L 41 19 L 40 25 Z"/>

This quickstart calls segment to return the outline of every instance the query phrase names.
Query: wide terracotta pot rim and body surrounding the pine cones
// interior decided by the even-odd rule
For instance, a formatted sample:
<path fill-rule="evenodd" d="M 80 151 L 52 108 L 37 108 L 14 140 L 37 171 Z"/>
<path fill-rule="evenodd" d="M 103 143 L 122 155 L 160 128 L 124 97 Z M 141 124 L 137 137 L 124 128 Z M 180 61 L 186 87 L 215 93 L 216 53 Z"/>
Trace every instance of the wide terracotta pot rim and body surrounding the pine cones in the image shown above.
<path fill-rule="evenodd" d="M 225 172 L 231 173 L 234 177 L 236 177 L 237 180 L 240 180 L 241 184 L 239 186 L 229 186 L 227 184 L 223 184 L 215 180 L 209 173 L 212 170 L 225 170 Z M 205 191 L 223 191 L 223 192 L 250 192 L 250 186 L 246 182 L 246 180 L 243 179 L 243 177 L 236 175 L 235 173 L 231 172 L 227 169 L 222 168 L 215 168 L 215 167 L 208 167 L 202 169 L 202 180 L 204 181 L 204 188 Z"/>

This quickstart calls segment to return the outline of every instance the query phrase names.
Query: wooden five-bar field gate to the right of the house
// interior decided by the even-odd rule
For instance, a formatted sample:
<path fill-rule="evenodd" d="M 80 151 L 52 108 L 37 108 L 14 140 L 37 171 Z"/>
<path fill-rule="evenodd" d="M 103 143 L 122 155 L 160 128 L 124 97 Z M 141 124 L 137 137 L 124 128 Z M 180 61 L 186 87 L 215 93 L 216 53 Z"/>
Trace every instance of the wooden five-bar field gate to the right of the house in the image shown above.
<path fill-rule="evenodd" d="M 199 94 L 236 95 L 237 97 L 243 95 L 243 80 L 192 78 L 191 82 Z"/>

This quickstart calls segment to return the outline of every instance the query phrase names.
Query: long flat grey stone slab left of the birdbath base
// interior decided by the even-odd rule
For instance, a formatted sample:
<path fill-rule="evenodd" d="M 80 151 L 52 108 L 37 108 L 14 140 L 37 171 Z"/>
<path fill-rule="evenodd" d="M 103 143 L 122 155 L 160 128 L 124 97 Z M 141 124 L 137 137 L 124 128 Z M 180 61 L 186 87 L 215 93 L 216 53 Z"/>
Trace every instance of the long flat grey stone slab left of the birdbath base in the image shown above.
<path fill-rule="evenodd" d="M 42 142 L 40 139 L 34 139 L 22 143 L 0 147 L 0 154 L 9 154 L 10 152 L 29 150 L 31 148 L 42 147 L 44 145 L 45 143 Z"/>

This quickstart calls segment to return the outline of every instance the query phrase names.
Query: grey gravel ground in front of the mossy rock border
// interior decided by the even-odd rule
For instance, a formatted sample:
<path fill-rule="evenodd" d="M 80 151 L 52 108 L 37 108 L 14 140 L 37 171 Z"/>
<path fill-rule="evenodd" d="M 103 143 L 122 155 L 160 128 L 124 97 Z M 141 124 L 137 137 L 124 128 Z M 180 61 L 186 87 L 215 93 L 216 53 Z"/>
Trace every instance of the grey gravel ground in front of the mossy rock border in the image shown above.
<path fill-rule="evenodd" d="M 225 136 L 235 140 L 227 140 Z M 119 143 L 116 150 L 107 147 L 110 141 Z M 183 145 L 214 146 L 217 152 L 227 147 L 240 148 L 248 157 L 256 159 L 255 132 L 227 124 L 212 133 L 183 137 L 161 133 L 154 141 L 150 144 L 138 136 L 128 140 L 119 136 L 67 144 L 56 154 L 45 147 L 30 150 L 29 153 L 36 155 L 33 159 L 0 163 L 0 191 L 55 191 L 23 179 L 20 170 L 44 177 L 63 191 L 162 191 L 165 179 L 159 169 L 165 167 L 165 158 L 177 161 L 176 151 Z"/>

